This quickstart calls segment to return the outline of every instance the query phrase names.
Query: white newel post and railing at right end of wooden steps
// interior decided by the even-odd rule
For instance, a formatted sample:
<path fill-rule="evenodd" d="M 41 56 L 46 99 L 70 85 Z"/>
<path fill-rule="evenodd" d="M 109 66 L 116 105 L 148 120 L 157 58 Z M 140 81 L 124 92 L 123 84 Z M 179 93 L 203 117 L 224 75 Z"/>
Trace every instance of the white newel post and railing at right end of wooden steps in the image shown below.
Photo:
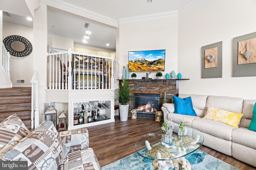
<path fill-rule="evenodd" d="M 38 97 L 38 83 L 36 74 L 38 70 L 34 70 L 33 76 L 30 80 L 31 83 L 31 129 L 39 125 L 39 97 Z"/>

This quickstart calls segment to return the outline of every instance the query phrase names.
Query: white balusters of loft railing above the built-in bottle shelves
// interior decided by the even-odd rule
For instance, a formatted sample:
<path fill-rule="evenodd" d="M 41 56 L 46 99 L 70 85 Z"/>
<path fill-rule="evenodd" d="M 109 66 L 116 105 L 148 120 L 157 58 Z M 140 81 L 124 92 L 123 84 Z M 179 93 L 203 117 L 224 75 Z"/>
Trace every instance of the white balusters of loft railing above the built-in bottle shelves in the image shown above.
<path fill-rule="evenodd" d="M 92 90 L 118 88 L 119 62 L 70 50 L 48 53 L 47 88 L 55 90 Z"/>

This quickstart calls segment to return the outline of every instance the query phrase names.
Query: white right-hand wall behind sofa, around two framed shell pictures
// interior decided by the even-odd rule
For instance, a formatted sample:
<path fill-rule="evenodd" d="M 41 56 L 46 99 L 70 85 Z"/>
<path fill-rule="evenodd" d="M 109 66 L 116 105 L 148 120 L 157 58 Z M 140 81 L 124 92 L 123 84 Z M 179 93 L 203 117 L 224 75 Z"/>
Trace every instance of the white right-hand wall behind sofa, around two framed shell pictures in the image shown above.
<path fill-rule="evenodd" d="M 180 93 L 256 98 L 256 78 L 232 77 L 232 39 L 256 31 L 255 0 L 202 0 L 179 15 Z M 201 47 L 222 41 L 222 78 L 201 78 Z"/>

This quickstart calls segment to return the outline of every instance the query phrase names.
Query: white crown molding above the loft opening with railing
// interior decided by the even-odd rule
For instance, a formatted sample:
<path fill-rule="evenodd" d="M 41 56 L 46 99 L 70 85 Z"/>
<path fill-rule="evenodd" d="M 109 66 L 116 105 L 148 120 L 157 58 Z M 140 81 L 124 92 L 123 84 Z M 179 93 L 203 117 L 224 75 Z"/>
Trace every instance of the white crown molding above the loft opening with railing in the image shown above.
<path fill-rule="evenodd" d="M 79 16 L 83 16 L 85 18 L 89 18 L 91 20 L 95 20 L 107 25 L 111 25 L 113 27 L 118 27 L 118 20 L 110 18 L 108 16 L 104 16 L 102 14 L 87 10 L 80 6 L 76 6 L 74 4 L 64 2 L 62 0 L 44 0 L 48 6 L 52 6 L 54 8 L 58 8 L 67 12 L 71 12 L 73 14 L 77 14 Z"/>

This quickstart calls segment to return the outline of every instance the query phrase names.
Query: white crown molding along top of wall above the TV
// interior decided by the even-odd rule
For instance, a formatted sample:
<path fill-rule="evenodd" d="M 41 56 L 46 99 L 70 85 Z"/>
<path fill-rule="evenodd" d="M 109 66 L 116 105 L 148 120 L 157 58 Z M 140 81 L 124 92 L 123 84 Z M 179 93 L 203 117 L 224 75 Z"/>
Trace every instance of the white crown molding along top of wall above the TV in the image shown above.
<path fill-rule="evenodd" d="M 154 14 L 142 15 L 142 16 L 134 16 L 134 17 L 127 17 L 127 18 L 119 18 L 119 23 L 126 23 L 126 22 L 134 22 L 134 21 L 145 21 L 145 20 L 152 20 L 152 19 L 159 19 L 159 18 L 167 18 L 178 16 L 178 10 L 168 11 L 168 12 L 159 12 Z"/>

